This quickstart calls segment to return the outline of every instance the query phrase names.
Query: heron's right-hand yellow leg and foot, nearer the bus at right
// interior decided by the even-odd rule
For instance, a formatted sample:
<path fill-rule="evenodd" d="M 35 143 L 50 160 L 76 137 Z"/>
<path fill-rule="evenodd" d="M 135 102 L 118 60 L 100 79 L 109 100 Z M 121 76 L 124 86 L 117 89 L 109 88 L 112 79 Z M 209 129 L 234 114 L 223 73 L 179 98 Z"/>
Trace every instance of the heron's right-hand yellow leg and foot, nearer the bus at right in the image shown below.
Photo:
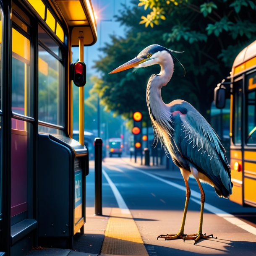
<path fill-rule="evenodd" d="M 201 192 L 201 210 L 200 210 L 200 221 L 199 221 L 199 230 L 196 234 L 193 235 L 187 235 L 185 237 L 183 237 L 183 241 L 185 242 L 185 240 L 194 240 L 194 244 L 196 244 L 196 242 L 200 239 L 208 239 L 208 238 L 214 238 L 213 235 L 205 235 L 202 233 L 202 229 L 203 229 L 203 216 L 204 216 L 204 201 L 205 201 L 205 194 L 204 194 L 204 190 L 202 188 L 202 185 L 199 181 L 199 179 L 196 179 L 197 183 L 199 185 L 200 188 L 200 192 Z M 217 238 L 217 237 L 216 237 Z"/>

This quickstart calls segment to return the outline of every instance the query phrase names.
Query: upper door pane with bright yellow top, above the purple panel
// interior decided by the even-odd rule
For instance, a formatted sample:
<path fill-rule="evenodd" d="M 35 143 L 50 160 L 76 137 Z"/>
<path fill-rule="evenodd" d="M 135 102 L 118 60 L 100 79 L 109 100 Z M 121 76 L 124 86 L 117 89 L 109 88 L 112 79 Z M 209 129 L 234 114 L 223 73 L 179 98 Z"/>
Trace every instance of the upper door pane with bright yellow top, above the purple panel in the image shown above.
<path fill-rule="evenodd" d="M 12 111 L 18 114 L 33 116 L 29 107 L 30 91 L 30 41 L 13 29 L 12 52 Z"/>

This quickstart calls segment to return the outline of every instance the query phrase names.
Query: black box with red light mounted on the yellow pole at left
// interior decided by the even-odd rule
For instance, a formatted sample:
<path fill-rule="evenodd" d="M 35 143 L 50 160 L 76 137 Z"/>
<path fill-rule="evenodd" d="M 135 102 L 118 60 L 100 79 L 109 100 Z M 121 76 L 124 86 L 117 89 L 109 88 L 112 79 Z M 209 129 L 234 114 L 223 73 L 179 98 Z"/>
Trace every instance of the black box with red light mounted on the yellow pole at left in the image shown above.
<path fill-rule="evenodd" d="M 70 80 L 78 87 L 86 84 L 86 65 L 84 62 L 78 61 L 70 64 Z"/>

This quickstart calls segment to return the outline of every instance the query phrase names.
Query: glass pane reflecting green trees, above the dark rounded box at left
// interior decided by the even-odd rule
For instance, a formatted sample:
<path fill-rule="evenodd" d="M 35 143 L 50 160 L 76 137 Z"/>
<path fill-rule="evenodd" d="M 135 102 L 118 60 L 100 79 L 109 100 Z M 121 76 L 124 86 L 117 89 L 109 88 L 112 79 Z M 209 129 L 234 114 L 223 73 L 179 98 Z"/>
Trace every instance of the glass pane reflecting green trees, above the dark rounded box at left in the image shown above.
<path fill-rule="evenodd" d="M 38 47 L 38 118 L 40 121 L 63 125 L 63 65 L 43 47 Z"/>

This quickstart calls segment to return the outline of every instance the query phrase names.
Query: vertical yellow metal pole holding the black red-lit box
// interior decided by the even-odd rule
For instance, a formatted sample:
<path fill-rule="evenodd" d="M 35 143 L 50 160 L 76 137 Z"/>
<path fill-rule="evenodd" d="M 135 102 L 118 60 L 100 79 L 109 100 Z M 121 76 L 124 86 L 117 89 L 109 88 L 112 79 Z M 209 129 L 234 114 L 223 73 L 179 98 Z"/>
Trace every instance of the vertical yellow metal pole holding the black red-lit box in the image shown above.
<path fill-rule="evenodd" d="M 83 31 L 79 31 L 79 61 L 84 62 Z M 79 143 L 84 146 L 84 86 L 79 87 Z"/>

